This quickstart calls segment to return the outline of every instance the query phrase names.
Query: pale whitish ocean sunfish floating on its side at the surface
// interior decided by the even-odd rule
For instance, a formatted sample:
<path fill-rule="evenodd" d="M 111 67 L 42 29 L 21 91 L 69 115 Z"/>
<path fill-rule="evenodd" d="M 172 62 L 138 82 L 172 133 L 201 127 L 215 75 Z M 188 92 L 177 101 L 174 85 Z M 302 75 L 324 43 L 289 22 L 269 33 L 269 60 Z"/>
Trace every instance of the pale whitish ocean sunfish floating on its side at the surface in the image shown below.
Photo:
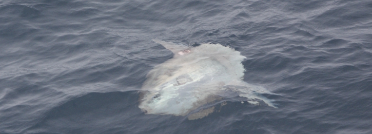
<path fill-rule="evenodd" d="M 261 95 L 273 93 L 242 81 L 245 69 L 241 62 L 246 57 L 239 51 L 220 44 L 188 47 L 153 41 L 172 51 L 174 56 L 148 72 L 139 104 L 145 113 L 199 119 L 214 111 L 213 106 L 200 107 L 228 97 L 246 98 L 251 104 L 259 104 L 257 100 L 261 100 L 277 108 L 272 100 Z"/>

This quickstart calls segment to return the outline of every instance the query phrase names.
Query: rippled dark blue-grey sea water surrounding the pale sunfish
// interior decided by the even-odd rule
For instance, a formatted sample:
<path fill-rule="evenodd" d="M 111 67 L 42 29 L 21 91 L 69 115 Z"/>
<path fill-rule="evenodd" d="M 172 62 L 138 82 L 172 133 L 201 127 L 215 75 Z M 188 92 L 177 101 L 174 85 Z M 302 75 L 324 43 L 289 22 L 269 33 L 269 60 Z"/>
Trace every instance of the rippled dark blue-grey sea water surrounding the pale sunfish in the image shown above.
<path fill-rule="evenodd" d="M 241 52 L 278 108 L 145 114 L 152 39 Z M 0 133 L 372 133 L 372 1 L 2 0 Z"/>

